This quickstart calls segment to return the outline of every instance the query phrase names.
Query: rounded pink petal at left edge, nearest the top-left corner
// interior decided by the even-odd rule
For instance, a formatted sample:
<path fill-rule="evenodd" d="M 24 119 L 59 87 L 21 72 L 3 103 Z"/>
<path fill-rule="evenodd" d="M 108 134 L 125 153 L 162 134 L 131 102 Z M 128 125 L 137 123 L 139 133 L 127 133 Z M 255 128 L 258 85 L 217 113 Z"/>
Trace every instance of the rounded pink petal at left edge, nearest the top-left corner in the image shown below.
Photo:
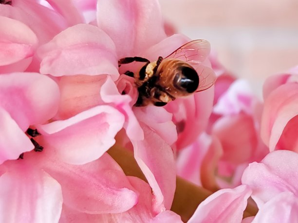
<path fill-rule="evenodd" d="M 0 16 L 0 66 L 10 65 L 33 56 L 37 36 L 24 23 Z M 23 71 L 14 67 L 13 71 Z M 3 70 L 0 67 L 0 72 Z"/>

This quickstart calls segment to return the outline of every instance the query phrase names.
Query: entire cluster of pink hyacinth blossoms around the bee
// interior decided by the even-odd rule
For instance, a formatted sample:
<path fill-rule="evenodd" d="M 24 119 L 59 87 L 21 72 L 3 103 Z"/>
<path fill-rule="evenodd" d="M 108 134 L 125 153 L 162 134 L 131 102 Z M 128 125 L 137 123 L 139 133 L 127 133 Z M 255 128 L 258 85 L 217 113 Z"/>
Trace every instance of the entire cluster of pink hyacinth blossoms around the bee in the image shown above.
<path fill-rule="evenodd" d="M 135 107 L 125 72 L 141 65 L 118 61 L 190 41 L 158 0 L 1 0 L 0 18 L 0 222 L 187 221 L 171 210 L 177 174 L 214 192 L 189 222 L 241 222 L 250 196 L 243 222 L 297 221 L 297 68 L 262 103 L 206 44 L 194 57 L 214 86 Z"/>

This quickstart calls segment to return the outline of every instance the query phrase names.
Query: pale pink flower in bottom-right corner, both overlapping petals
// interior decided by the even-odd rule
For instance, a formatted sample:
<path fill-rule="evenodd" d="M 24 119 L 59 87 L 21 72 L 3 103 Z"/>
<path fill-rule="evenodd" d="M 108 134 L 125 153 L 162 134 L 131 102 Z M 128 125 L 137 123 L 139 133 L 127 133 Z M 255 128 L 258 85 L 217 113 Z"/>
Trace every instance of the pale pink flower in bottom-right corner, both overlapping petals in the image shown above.
<path fill-rule="evenodd" d="M 242 183 L 252 189 L 251 197 L 260 209 L 253 223 L 297 221 L 297 165 L 298 154 L 283 150 L 271 152 L 245 169 Z"/>

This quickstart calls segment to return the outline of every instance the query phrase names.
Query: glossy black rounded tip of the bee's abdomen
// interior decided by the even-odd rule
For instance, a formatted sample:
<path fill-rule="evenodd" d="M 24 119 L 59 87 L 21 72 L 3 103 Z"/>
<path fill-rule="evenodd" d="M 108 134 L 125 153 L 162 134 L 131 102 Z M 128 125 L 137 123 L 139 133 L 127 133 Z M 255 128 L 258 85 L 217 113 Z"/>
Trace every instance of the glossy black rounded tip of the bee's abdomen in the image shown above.
<path fill-rule="evenodd" d="M 176 74 L 174 78 L 175 85 L 184 88 L 188 93 L 194 92 L 199 86 L 199 76 L 195 69 L 181 67 L 181 74 Z M 180 78 L 179 78 L 180 76 Z"/>

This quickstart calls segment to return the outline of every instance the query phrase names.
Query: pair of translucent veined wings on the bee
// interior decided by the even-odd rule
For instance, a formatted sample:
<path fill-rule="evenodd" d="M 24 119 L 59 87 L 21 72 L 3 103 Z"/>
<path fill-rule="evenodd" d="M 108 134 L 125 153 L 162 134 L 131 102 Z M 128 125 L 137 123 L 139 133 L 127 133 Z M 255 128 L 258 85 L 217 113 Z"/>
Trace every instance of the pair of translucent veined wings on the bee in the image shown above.
<path fill-rule="evenodd" d="M 204 39 L 197 39 L 179 47 L 166 58 L 185 61 L 197 71 L 199 75 L 199 86 L 196 92 L 198 92 L 213 86 L 216 80 L 214 71 L 202 65 L 202 62 L 205 61 L 209 53 L 210 43 Z"/>

